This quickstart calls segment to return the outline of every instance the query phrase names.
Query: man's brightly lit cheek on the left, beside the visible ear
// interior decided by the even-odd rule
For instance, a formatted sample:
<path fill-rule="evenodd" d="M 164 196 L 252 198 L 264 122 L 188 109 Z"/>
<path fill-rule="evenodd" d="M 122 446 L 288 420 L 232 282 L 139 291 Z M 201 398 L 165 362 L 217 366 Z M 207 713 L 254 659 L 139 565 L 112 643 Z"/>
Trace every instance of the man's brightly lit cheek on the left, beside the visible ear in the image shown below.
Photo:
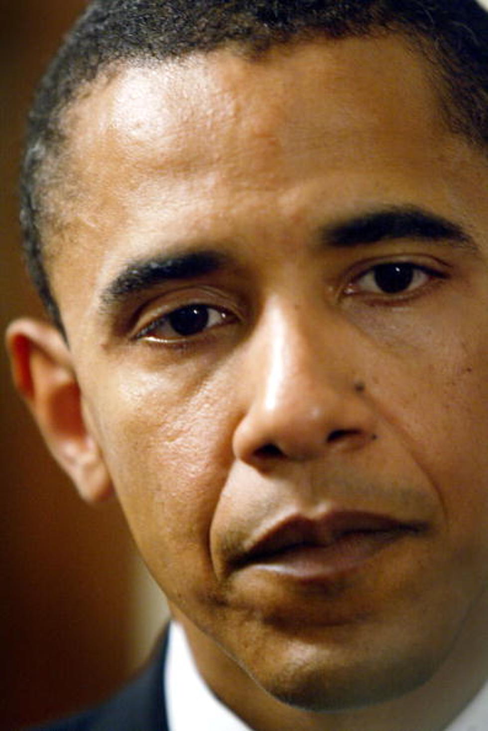
<path fill-rule="evenodd" d="M 188 389 L 162 378 L 136 381 L 112 378 L 96 401 L 118 498 L 159 584 L 173 593 L 188 582 L 208 590 L 208 536 L 232 459 L 223 396 L 216 384 Z"/>

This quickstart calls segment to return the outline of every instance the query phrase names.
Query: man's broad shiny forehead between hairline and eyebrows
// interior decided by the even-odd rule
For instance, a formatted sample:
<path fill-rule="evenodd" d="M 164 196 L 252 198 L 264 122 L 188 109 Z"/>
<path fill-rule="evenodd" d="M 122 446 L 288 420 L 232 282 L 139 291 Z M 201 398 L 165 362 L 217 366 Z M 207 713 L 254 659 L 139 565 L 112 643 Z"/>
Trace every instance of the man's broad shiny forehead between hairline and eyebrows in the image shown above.
<path fill-rule="evenodd" d="M 87 292 L 164 235 L 235 238 L 251 220 L 286 232 L 305 199 L 321 198 L 321 216 L 348 213 L 378 195 L 380 178 L 407 198 L 423 181 L 431 195 L 432 175 L 454 173 L 467 145 L 443 125 L 429 69 L 390 36 L 258 59 L 218 50 L 99 77 L 64 120 L 75 194 L 53 247 L 63 316 L 69 305 L 77 319 Z"/>

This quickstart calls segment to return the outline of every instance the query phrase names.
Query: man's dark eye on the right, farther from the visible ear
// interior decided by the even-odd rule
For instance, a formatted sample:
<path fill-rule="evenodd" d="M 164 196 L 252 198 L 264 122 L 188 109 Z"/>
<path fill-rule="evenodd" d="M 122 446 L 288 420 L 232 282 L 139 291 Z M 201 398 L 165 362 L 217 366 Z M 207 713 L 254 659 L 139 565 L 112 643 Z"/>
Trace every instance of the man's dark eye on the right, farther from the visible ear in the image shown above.
<path fill-rule="evenodd" d="M 357 277 L 348 287 L 347 294 L 403 295 L 442 276 L 440 272 L 411 262 L 386 262 Z"/>

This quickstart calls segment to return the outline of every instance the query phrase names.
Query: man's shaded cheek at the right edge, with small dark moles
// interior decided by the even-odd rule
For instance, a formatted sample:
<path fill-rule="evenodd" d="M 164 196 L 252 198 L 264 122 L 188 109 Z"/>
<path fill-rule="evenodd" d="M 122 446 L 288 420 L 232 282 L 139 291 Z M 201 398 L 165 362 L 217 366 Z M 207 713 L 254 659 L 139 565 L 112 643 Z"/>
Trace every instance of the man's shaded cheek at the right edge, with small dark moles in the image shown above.
<path fill-rule="evenodd" d="M 375 389 L 438 494 L 453 556 L 473 576 L 473 567 L 488 572 L 488 352 L 482 328 L 463 340 L 460 331 L 432 330 Z"/>

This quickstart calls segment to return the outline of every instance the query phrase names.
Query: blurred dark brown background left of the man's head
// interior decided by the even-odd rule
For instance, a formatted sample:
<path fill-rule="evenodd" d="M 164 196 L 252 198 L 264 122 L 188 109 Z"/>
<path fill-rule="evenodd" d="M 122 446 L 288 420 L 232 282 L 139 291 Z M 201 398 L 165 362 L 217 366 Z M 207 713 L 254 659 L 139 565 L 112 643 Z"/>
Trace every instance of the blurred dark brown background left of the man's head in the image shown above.
<path fill-rule="evenodd" d="M 19 150 L 34 84 L 83 5 L 0 0 L 2 333 L 40 311 L 19 257 Z M 118 506 L 77 498 L 13 392 L 4 348 L 0 365 L 0 731 L 12 731 L 100 700 L 126 677 L 145 579 Z"/>

